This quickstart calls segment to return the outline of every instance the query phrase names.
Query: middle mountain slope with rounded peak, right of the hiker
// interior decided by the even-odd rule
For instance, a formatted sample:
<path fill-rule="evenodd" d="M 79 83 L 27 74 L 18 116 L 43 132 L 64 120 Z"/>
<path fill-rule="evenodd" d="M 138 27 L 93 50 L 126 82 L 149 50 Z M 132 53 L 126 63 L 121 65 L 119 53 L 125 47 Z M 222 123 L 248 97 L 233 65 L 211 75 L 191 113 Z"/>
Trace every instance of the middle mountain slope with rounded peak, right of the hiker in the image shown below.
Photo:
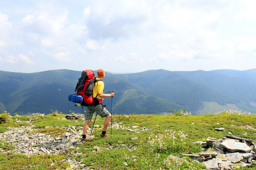
<path fill-rule="evenodd" d="M 135 84 L 148 94 L 172 101 L 193 113 L 204 107 L 204 101 L 214 101 L 220 105 L 238 103 L 236 99 L 172 71 L 150 70 L 138 74 L 119 75 L 119 77 Z"/>

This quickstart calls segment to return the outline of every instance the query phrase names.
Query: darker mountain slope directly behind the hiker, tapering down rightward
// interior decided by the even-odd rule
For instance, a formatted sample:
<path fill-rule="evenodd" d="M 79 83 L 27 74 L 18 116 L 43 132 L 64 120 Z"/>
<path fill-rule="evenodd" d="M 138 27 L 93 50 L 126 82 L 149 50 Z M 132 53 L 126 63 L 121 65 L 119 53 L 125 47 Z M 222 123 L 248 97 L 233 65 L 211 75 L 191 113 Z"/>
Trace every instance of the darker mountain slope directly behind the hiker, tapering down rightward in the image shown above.
<path fill-rule="evenodd" d="M 69 113 L 69 111 L 82 112 L 81 107 L 74 107 L 75 103 L 68 101 L 68 95 L 75 90 L 81 71 L 53 70 L 41 73 L 22 74 L 0 71 L 1 76 L 1 109 L 11 114 L 51 113 L 55 110 Z M 114 91 L 114 112 L 117 114 L 135 113 L 163 113 L 180 109 L 179 105 L 171 101 L 158 99 L 137 90 L 130 83 L 119 79 L 113 74 L 106 74 L 104 79 L 106 91 Z M 133 96 L 127 97 L 126 91 L 135 91 Z M 143 94 L 143 99 L 138 94 Z M 123 100 L 125 99 L 125 100 Z M 138 99 L 141 103 L 138 103 Z M 152 100 L 149 100 L 152 99 Z M 155 107 L 150 107 L 155 103 Z M 111 109 L 111 98 L 105 98 L 106 109 Z M 128 107 L 126 107 L 128 105 Z M 136 107 L 135 107 L 136 106 Z M 141 109 L 137 109 L 137 108 Z"/>

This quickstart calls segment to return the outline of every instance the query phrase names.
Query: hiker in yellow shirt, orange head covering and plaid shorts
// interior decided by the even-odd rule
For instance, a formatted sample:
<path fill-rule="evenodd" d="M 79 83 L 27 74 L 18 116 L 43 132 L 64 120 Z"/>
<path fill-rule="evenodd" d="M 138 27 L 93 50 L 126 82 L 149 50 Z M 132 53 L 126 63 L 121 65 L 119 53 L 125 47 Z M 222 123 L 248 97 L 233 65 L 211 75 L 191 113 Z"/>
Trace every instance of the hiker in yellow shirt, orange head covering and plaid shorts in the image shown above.
<path fill-rule="evenodd" d="M 103 69 L 99 69 L 99 70 L 97 70 L 97 75 L 98 75 L 98 77 L 96 79 L 102 80 L 105 77 L 105 71 Z M 111 94 L 104 94 L 103 90 L 104 90 L 104 82 L 97 81 L 93 87 L 93 97 L 97 97 L 98 99 L 103 101 L 104 97 L 113 97 L 114 96 L 114 92 L 112 92 Z M 110 134 L 106 133 L 106 130 L 108 129 L 108 126 L 109 126 L 109 122 L 112 117 L 111 114 L 102 106 L 102 104 L 89 105 L 87 107 L 87 112 L 85 113 L 85 123 L 84 123 L 84 128 L 82 131 L 81 141 L 90 141 L 92 139 L 92 137 L 89 137 L 89 136 L 86 137 L 86 132 L 88 130 L 90 122 L 92 121 L 94 112 L 97 112 L 97 114 L 99 114 L 102 118 L 106 117 L 104 125 L 103 125 L 103 130 L 101 133 L 101 138 L 111 137 Z"/>

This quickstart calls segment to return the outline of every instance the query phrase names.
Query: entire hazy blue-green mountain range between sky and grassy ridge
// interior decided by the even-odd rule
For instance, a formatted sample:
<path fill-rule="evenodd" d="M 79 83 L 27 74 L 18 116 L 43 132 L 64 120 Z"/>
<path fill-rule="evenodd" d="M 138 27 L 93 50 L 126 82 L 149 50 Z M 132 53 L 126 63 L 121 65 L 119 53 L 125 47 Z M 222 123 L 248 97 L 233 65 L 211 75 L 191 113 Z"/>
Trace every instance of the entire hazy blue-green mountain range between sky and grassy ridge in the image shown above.
<path fill-rule="evenodd" d="M 81 113 L 81 107 L 68 101 L 80 76 L 81 71 L 72 70 L 0 71 L 0 112 Z M 114 114 L 168 114 L 179 109 L 194 115 L 224 109 L 256 113 L 256 69 L 106 73 L 104 83 L 104 92 L 115 92 Z M 110 111 L 111 98 L 105 98 L 103 104 Z"/>

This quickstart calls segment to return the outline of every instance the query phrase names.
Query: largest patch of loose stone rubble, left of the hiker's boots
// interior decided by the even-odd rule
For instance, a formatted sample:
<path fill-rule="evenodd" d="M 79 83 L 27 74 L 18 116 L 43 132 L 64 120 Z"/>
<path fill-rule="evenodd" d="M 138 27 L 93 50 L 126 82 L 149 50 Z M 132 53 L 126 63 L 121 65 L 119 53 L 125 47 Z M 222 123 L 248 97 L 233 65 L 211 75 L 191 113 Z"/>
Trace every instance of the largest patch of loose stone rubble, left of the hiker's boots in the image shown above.
<path fill-rule="evenodd" d="M 56 127 L 55 127 L 56 128 Z M 76 147 L 81 144 L 82 127 L 62 127 L 65 133 L 62 137 L 53 138 L 43 133 L 33 133 L 32 126 L 20 128 L 9 127 L 4 133 L 0 133 L 2 142 L 15 146 L 13 151 L 1 150 L 1 152 L 13 152 L 14 154 L 58 154 L 66 148 Z"/>

